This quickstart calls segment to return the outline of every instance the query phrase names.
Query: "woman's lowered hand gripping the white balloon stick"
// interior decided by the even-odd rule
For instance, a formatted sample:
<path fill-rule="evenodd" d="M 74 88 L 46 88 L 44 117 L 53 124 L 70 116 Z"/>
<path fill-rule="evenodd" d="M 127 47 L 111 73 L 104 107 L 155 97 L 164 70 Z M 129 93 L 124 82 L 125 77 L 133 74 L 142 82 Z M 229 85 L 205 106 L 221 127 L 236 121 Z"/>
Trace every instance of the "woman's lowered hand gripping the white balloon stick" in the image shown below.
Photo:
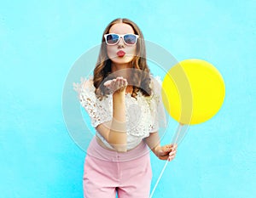
<path fill-rule="evenodd" d="M 177 144 L 166 144 L 155 148 L 155 156 L 158 156 L 160 160 L 172 161 L 176 156 Z"/>

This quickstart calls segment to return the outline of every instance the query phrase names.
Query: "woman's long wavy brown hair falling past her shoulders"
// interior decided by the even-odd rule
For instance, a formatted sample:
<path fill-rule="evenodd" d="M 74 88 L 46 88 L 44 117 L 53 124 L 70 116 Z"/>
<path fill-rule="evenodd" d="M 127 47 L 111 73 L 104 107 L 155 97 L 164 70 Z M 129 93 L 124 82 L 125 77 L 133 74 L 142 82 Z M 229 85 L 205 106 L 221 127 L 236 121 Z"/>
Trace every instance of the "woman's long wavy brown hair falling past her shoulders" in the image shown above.
<path fill-rule="evenodd" d="M 94 69 L 93 76 L 93 84 L 96 88 L 95 93 L 96 97 L 99 99 L 103 99 L 103 97 L 109 94 L 108 88 L 106 88 L 103 84 L 109 79 L 113 79 L 114 76 L 111 76 L 111 59 L 108 58 L 107 54 L 107 44 L 105 42 L 104 35 L 109 33 L 109 29 L 112 25 L 117 23 L 125 23 L 131 25 L 135 34 L 139 36 L 137 40 L 137 49 L 136 55 L 131 60 L 131 65 L 134 70 L 132 70 L 132 78 L 131 82 L 128 82 L 132 85 L 132 93 L 131 96 L 137 98 L 137 93 L 141 92 L 144 96 L 151 95 L 150 84 L 150 71 L 148 68 L 147 60 L 146 60 L 146 48 L 142 31 L 139 27 L 128 19 L 116 19 L 108 24 L 105 31 L 102 35 L 102 45 L 100 49 L 100 53 L 97 59 L 96 68 Z"/>

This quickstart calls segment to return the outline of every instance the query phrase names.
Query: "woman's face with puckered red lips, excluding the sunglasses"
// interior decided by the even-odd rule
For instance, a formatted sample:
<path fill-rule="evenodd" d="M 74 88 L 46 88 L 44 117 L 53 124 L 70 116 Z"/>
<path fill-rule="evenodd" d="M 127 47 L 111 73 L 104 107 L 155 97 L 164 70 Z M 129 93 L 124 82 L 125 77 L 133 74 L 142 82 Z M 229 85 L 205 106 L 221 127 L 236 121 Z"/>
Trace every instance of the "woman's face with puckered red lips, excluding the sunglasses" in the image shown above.
<path fill-rule="evenodd" d="M 115 33 L 124 35 L 127 33 L 134 34 L 131 25 L 125 23 L 118 23 L 111 26 L 109 33 Z M 136 44 L 126 45 L 123 37 L 119 39 L 119 42 L 115 45 L 107 45 L 108 58 L 115 64 L 127 64 L 130 63 L 133 57 L 136 55 Z"/>

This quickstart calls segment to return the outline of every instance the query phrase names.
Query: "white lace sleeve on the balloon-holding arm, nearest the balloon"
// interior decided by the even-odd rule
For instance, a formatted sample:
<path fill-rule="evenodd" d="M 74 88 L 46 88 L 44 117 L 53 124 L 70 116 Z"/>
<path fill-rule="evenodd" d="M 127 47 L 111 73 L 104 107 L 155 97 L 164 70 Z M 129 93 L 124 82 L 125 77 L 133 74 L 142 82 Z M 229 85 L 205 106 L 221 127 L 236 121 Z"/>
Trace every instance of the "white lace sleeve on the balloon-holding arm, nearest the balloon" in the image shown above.
<path fill-rule="evenodd" d="M 153 127 L 151 130 L 152 132 L 156 132 L 160 129 L 160 127 L 166 127 L 166 113 L 165 108 L 163 105 L 162 97 L 161 97 L 161 80 L 159 76 L 151 79 L 151 88 L 153 90 L 153 99 L 151 108 L 154 109 L 152 114 L 152 122 Z"/>

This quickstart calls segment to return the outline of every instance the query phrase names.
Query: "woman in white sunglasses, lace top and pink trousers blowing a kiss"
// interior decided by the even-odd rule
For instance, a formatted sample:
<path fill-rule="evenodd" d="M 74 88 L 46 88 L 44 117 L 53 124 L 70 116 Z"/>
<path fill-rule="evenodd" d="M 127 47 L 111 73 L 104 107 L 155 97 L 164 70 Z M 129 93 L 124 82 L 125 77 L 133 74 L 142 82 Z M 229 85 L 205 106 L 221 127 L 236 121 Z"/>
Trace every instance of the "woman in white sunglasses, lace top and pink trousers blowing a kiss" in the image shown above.
<path fill-rule="evenodd" d="M 84 163 L 84 197 L 148 197 L 148 147 L 172 161 L 177 145 L 160 145 L 160 84 L 150 75 L 142 31 L 131 20 L 113 20 L 105 29 L 93 79 L 81 82 L 79 100 L 96 128 Z"/>

